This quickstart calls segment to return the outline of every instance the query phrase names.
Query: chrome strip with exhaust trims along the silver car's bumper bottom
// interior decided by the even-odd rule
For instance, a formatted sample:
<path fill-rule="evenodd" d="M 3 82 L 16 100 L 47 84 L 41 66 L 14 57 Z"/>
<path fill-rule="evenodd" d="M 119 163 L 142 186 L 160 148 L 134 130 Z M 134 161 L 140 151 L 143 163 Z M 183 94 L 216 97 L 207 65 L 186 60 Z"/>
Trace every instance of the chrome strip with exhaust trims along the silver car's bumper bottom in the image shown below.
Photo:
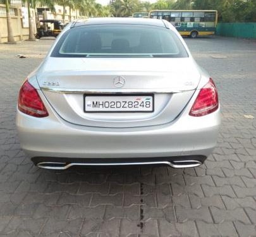
<path fill-rule="evenodd" d="M 191 163 L 191 164 L 186 164 Z M 45 164 L 49 164 L 49 166 L 45 166 Z M 51 166 L 59 164 L 59 166 Z M 143 164 L 166 164 L 173 168 L 189 168 L 189 167 L 197 167 L 202 164 L 200 161 L 155 161 L 155 162 L 114 162 L 114 163 L 68 163 L 66 166 L 65 162 L 39 162 L 37 167 L 43 169 L 68 169 L 71 166 L 131 166 L 131 165 L 143 165 Z M 63 166 L 62 166 L 63 165 Z"/>

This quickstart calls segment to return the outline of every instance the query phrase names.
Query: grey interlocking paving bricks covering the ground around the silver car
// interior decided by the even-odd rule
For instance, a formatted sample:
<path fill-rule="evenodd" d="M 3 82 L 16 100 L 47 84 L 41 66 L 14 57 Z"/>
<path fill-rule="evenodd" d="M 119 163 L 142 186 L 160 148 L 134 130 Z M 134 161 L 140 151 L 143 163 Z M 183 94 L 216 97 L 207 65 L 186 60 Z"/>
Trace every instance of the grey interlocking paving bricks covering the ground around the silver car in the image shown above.
<path fill-rule="evenodd" d="M 222 106 L 204 166 L 64 172 L 34 167 L 15 130 L 20 84 L 52 42 L 0 45 L 0 236 L 256 236 L 255 41 L 186 39 Z"/>

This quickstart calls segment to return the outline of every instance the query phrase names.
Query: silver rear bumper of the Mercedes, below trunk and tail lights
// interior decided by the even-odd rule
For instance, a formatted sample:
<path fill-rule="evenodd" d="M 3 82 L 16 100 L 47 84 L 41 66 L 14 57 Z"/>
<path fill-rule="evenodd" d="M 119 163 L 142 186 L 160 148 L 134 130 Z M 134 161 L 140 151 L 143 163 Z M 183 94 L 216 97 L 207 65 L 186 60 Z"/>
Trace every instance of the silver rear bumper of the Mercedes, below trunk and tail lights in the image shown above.
<path fill-rule="evenodd" d="M 118 163 L 124 157 L 140 162 L 147 157 L 207 157 L 216 146 L 221 123 L 219 109 L 207 116 L 183 114 L 172 123 L 142 128 L 78 126 L 67 123 L 54 111 L 49 114 L 34 118 L 17 111 L 21 148 L 30 158 L 116 159 Z"/>

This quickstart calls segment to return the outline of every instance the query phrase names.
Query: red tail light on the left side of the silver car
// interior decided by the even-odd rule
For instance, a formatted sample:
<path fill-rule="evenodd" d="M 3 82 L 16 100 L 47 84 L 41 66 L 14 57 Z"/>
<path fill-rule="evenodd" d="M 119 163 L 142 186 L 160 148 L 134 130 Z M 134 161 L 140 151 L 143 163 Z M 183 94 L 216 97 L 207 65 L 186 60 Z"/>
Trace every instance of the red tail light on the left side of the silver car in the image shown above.
<path fill-rule="evenodd" d="M 37 118 L 49 115 L 37 90 L 27 80 L 20 88 L 18 109 L 25 114 Z"/>

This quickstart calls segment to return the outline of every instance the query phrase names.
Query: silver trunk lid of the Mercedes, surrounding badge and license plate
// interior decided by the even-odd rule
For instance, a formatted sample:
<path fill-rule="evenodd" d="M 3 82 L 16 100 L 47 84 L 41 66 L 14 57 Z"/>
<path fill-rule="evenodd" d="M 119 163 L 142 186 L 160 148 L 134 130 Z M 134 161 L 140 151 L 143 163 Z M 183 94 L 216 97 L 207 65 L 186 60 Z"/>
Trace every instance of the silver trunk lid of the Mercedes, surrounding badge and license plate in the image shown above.
<path fill-rule="evenodd" d="M 125 85 L 117 88 L 114 78 Z M 54 110 L 84 126 L 136 127 L 173 121 L 192 97 L 200 73 L 191 58 L 48 58 L 37 80 Z M 154 112 L 83 110 L 85 94 L 154 94 Z"/>

